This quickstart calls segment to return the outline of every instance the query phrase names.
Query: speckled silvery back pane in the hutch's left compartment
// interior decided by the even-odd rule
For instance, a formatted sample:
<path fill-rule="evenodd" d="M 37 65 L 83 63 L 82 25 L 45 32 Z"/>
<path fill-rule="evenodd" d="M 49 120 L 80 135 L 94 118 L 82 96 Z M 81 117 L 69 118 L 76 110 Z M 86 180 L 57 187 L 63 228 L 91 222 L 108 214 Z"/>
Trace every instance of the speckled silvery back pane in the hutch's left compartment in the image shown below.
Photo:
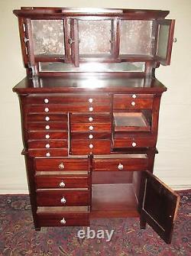
<path fill-rule="evenodd" d="M 32 20 L 34 55 L 65 54 L 62 20 Z"/>

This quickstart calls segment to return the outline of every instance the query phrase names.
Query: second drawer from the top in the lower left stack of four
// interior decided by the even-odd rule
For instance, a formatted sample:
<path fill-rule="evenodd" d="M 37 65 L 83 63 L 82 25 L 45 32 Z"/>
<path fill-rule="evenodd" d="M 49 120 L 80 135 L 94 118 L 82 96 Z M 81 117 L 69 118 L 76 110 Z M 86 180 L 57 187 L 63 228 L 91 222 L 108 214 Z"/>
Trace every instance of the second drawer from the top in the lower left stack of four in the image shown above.
<path fill-rule="evenodd" d="M 87 175 L 36 175 L 35 180 L 37 189 L 89 187 Z"/>

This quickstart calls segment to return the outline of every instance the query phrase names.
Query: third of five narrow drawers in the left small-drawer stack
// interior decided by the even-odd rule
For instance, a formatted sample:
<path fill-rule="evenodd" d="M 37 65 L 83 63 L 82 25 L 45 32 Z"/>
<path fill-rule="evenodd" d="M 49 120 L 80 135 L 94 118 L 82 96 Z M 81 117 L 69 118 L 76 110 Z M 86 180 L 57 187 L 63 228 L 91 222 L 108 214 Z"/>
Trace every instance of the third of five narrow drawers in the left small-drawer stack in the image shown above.
<path fill-rule="evenodd" d="M 67 139 L 67 131 L 29 131 L 29 140 L 56 140 L 56 139 Z"/>

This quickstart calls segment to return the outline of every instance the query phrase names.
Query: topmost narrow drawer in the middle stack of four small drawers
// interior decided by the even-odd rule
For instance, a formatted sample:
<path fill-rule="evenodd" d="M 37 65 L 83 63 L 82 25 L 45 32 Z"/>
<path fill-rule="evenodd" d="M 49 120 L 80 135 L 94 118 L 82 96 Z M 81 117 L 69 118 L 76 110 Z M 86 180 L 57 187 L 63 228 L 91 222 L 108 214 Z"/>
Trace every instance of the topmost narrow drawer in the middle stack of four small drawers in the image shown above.
<path fill-rule="evenodd" d="M 71 123 L 110 123 L 111 115 L 95 115 L 95 114 L 72 114 L 70 115 Z"/>

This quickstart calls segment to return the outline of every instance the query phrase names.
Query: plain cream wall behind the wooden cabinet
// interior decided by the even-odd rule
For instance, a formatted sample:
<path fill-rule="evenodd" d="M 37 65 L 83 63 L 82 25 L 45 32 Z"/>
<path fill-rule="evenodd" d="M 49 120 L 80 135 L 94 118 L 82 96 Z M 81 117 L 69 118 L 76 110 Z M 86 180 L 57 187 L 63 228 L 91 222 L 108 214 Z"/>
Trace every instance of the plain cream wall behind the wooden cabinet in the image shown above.
<path fill-rule="evenodd" d="M 105 8 L 148 8 L 170 10 L 176 18 L 173 55 L 170 66 L 160 66 L 157 78 L 168 91 L 160 108 L 155 173 L 173 188 L 190 187 L 191 177 L 191 2 L 190 0 L 7 0 L 0 2 L 0 193 L 28 193 L 24 157 L 21 156 L 21 122 L 13 86 L 25 76 L 18 34 L 18 21 L 12 10 L 21 6 L 70 6 Z"/>

